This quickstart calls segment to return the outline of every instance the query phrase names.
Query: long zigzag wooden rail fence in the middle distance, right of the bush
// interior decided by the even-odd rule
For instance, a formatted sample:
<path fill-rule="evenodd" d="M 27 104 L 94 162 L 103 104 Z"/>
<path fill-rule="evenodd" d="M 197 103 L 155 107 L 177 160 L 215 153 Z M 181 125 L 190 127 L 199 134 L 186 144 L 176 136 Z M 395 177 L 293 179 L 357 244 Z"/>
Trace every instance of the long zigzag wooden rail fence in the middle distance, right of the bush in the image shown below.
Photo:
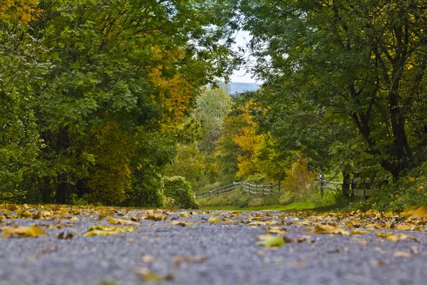
<path fill-rule="evenodd" d="M 273 191 L 280 192 L 280 182 L 278 184 L 251 184 L 248 182 L 233 182 L 232 184 L 218 187 L 214 190 L 196 193 L 196 198 L 218 197 L 227 195 L 236 190 L 241 189 L 243 192 L 258 196 L 268 196 L 273 194 Z"/>

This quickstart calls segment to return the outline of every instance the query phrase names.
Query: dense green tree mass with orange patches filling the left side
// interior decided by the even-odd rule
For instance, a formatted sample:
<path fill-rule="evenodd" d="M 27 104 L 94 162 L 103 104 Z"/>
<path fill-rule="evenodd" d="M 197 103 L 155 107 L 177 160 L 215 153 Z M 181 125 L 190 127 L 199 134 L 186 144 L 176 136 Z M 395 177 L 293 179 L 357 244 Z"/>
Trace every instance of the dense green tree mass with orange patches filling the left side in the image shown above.
<path fill-rule="evenodd" d="M 0 6 L 21 15 L 0 26 L 2 190 L 135 204 L 126 192 L 157 187 L 174 155 L 168 136 L 233 65 L 233 1 L 218 16 L 209 1 L 21 2 Z"/>

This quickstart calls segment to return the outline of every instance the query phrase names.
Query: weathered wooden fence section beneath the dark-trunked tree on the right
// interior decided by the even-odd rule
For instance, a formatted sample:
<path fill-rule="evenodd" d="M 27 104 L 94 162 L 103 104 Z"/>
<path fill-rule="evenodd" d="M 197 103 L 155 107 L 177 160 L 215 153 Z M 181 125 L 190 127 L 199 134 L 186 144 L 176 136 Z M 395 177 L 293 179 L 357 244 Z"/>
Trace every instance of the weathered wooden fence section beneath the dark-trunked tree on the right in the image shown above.
<path fill-rule="evenodd" d="M 320 194 L 323 196 L 325 190 L 342 191 L 343 195 L 352 195 L 358 197 L 369 197 L 374 195 L 376 190 L 388 182 L 388 180 L 378 178 L 360 177 L 360 173 L 364 168 L 353 172 L 353 178 L 350 175 L 344 175 L 342 182 L 332 182 L 325 180 L 325 175 L 319 175 Z"/>

